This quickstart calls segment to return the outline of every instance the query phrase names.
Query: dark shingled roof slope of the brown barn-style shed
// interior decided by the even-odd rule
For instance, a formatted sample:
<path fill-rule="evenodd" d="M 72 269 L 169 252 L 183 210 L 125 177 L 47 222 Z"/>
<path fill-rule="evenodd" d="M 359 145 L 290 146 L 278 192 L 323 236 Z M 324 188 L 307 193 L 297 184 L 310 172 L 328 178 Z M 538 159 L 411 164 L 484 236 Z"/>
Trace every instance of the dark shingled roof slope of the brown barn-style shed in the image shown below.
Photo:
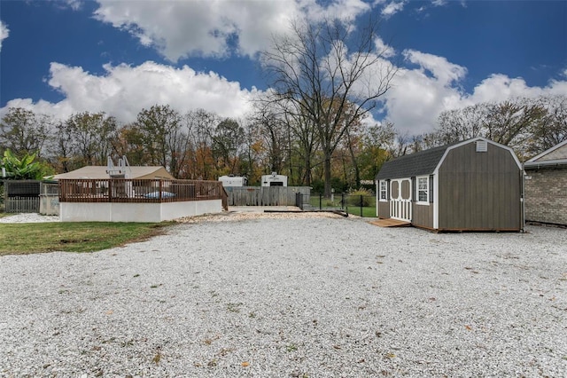
<path fill-rule="evenodd" d="M 386 161 L 378 172 L 376 179 L 431 175 L 449 146 L 453 145 L 435 147 Z"/>

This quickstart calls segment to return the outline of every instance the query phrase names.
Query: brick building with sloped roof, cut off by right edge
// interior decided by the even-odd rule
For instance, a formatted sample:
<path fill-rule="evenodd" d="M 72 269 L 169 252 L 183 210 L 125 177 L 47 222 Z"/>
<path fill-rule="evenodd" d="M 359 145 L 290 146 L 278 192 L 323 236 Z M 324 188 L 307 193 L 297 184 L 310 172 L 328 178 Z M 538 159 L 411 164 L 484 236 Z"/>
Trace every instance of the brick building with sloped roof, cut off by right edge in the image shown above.
<path fill-rule="evenodd" d="M 524 162 L 525 220 L 567 225 L 567 140 Z"/>

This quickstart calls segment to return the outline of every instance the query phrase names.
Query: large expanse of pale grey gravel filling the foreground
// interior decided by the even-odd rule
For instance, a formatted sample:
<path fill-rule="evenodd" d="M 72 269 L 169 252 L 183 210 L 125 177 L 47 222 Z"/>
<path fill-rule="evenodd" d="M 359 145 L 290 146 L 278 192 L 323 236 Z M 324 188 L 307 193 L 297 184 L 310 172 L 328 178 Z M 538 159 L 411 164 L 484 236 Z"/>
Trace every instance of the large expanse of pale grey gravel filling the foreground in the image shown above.
<path fill-rule="evenodd" d="M 567 376 L 567 231 L 198 217 L 0 257 L 0 376 Z"/>

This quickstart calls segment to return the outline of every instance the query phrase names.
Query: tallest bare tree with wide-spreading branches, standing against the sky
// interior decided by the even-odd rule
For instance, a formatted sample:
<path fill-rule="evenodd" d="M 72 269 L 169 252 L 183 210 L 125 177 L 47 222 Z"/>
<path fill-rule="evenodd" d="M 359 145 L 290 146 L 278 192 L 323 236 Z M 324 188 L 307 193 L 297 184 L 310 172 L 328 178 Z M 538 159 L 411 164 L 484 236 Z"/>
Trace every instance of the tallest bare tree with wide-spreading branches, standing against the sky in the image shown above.
<path fill-rule="evenodd" d="M 353 122 L 377 106 L 396 73 L 384 60 L 386 50 L 377 51 L 377 27 L 374 20 L 355 32 L 339 20 L 296 21 L 290 35 L 276 36 L 261 54 L 278 99 L 293 103 L 293 116 L 307 116 L 317 131 L 326 196 L 334 150 Z"/>

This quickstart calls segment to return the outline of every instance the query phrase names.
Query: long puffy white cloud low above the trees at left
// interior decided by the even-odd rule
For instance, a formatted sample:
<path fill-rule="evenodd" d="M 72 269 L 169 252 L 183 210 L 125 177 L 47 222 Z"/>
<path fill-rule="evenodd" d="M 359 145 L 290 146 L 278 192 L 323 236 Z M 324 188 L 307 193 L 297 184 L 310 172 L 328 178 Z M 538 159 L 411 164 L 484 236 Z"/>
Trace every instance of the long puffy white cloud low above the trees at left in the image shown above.
<path fill-rule="evenodd" d="M 53 104 L 29 98 L 12 99 L 4 107 L 20 106 L 59 119 L 83 111 L 103 111 L 120 122 L 133 122 L 152 105 L 169 105 L 180 113 L 203 108 L 222 117 L 242 117 L 255 89 L 245 91 L 214 73 L 198 74 L 190 67 L 175 68 L 145 62 L 137 67 L 105 65 L 105 75 L 91 75 L 82 67 L 51 63 L 49 84 L 65 99 Z M 2 112 L 0 112 L 2 113 Z"/>

